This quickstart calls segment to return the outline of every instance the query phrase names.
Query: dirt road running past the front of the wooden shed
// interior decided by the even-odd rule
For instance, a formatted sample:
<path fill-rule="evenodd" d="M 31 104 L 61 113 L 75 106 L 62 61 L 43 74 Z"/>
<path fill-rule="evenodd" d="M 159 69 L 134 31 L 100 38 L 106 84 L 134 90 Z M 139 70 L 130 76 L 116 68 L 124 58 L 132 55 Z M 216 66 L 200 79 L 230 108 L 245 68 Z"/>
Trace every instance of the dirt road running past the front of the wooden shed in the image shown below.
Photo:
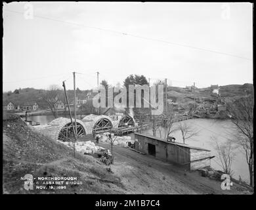
<path fill-rule="evenodd" d="M 110 144 L 99 146 L 110 149 Z M 244 194 L 244 189 L 234 184 L 230 190 L 221 190 L 221 182 L 202 177 L 198 171 L 184 171 L 180 167 L 114 146 L 112 171 L 122 178 L 131 194 Z"/>

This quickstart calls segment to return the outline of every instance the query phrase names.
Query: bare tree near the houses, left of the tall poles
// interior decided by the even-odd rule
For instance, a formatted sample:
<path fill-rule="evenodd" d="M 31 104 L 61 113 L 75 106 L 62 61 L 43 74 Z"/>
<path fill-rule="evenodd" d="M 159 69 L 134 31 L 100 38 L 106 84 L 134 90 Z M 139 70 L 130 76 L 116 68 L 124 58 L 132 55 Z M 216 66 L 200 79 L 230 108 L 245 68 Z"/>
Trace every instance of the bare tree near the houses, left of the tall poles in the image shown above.
<path fill-rule="evenodd" d="M 43 100 L 47 102 L 47 105 L 51 109 L 53 116 L 58 117 L 58 108 L 56 103 L 59 101 L 60 87 L 58 85 L 51 85 L 47 92 L 43 95 Z"/>

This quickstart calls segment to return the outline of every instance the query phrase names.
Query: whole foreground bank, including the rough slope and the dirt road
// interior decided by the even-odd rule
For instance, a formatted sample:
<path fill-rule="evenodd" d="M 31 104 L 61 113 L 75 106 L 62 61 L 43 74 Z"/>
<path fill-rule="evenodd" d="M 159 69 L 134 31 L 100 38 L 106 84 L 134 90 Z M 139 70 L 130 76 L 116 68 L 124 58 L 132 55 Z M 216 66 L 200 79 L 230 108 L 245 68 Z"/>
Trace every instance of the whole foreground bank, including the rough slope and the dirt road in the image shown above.
<path fill-rule="evenodd" d="M 18 118 L 5 117 L 3 137 L 4 194 L 251 194 L 236 183 L 230 190 L 222 190 L 221 182 L 197 171 L 184 171 L 120 146 L 114 148 L 116 159 L 111 166 L 79 152 L 74 158 L 71 148 L 35 133 Z M 25 190 L 20 177 L 26 174 L 33 178 L 77 177 L 82 184 Z"/>

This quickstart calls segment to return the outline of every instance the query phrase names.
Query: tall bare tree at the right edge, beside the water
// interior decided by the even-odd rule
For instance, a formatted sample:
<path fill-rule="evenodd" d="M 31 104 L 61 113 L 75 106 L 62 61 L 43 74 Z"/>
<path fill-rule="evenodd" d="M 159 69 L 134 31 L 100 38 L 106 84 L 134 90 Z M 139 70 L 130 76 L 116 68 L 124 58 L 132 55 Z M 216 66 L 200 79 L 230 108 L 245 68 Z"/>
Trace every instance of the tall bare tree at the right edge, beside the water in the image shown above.
<path fill-rule="evenodd" d="M 236 131 L 233 141 L 245 152 L 249 167 L 250 186 L 253 186 L 253 107 L 254 100 L 251 95 L 236 100 L 228 106 L 228 113 Z"/>

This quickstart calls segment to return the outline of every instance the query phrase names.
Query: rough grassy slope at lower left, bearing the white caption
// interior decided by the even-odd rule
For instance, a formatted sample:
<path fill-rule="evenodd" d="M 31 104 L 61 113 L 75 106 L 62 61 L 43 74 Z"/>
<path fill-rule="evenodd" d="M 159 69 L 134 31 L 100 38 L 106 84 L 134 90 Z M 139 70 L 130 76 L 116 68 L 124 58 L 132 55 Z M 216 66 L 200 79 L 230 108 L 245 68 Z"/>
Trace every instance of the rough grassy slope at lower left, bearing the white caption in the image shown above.
<path fill-rule="evenodd" d="M 21 119 L 4 116 L 3 121 L 3 192 L 119 194 L 125 188 L 119 177 L 91 156 L 76 154 L 66 146 L 32 131 Z M 66 190 L 24 190 L 27 173 L 33 177 L 77 177 L 83 185 L 69 185 Z"/>

